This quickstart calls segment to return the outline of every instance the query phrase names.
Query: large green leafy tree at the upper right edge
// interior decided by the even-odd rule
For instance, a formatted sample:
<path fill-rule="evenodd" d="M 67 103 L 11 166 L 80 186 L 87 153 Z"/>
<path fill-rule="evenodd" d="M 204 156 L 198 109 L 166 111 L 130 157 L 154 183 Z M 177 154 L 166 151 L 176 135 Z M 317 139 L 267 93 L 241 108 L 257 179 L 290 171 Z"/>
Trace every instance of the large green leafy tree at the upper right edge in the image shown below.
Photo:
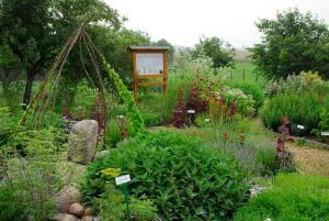
<path fill-rule="evenodd" d="M 328 26 L 310 12 L 298 9 L 277 12 L 276 19 L 261 19 L 261 43 L 249 48 L 258 69 L 271 78 L 287 77 L 302 70 L 329 77 Z"/>

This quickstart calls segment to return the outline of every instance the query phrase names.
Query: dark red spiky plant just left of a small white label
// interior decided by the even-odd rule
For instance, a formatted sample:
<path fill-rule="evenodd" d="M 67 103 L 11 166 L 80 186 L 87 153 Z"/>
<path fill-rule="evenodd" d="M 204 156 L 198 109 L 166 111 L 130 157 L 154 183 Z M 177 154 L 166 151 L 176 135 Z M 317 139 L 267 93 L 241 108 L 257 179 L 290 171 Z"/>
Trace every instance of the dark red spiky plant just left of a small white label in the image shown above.
<path fill-rule="evenodd" d="M 184 90 L 180 88 L 177 96 L 175 107 L 172 113 L 173 125 L 178 129 L 184 126 L 186 122 L 186 110 L 184 103 Z"/>

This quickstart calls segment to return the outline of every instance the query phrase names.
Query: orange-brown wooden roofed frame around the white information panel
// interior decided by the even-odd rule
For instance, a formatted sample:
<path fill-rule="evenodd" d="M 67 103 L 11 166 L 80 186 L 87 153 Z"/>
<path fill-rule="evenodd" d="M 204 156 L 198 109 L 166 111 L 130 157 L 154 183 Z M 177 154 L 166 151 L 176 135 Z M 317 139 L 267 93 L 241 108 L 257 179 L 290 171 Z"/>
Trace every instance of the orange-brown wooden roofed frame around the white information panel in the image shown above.
<path fill-rule="evenodd" d="M 138 103 L 138 87 L 149 87 L 149 86 L 162 86 L 162 93 L 167 92 L 168 85 L 168 49 L 166 46 L 129 46 L 128 51 L 132 53 L 133 57 L 133 88 L 134 98 L 136 103 Z M 137 54 L 162 54 L 163 55 L 163 67 L 162 73 L 138 73 L 137 71 Z M 143 79 L 161 78 L 161 81 L 143 82 Z"/>

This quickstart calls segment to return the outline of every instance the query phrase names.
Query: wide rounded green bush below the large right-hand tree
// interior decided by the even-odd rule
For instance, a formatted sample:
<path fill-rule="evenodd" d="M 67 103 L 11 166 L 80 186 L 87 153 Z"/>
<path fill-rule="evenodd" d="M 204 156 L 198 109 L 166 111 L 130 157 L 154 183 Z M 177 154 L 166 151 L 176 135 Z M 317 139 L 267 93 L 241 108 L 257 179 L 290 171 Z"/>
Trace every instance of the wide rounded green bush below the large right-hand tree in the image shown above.
<path fill-rule="evenodd" d="M 264 125 L 277 130 L 281 118 L 288 117 L 292 124 L 302 124 L 309 133 L 317 128 L 320 110 L 328 104 L 328 98 L 316 92 L 279 93 L 269 99 L 260 111 Z"/>

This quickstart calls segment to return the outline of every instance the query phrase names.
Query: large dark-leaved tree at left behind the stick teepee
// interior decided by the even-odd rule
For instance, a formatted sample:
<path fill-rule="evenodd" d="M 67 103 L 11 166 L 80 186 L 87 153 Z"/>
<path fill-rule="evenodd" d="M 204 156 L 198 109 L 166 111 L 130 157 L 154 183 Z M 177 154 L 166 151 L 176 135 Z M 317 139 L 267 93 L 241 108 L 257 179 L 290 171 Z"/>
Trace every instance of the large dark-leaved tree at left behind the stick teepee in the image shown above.
<path fill-rule="evenodd" d="M 1 43 L 8 44 L 26 70 L 23 102 L 29 103 L 34 79 L 81 22 L 87 29 L 118 30 L 122 19 L 102 0 L 1 0 Z"/>

